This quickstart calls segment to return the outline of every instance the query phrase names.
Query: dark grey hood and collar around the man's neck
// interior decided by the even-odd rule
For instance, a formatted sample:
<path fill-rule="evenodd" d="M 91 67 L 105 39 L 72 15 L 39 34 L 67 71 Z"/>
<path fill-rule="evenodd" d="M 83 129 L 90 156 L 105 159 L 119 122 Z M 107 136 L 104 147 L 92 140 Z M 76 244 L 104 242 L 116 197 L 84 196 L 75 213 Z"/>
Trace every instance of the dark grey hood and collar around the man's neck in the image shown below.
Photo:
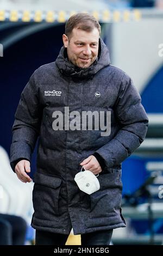
<path fill-rule="evenodd" d="M 95 75 L 99 70 L 110 64 L 109 50 L 104 44 L 103 40 L 99 38 L 98 57 L 95 62 L 93 62 L 89 68 L 78 68 L 78 66 L 75 66 L 68 61 L 67 50 L 64 46 L 62 46 L 55 63 L 61 74 L 65 76 L 89 79 L 92 78 L 93 75 Z"/>

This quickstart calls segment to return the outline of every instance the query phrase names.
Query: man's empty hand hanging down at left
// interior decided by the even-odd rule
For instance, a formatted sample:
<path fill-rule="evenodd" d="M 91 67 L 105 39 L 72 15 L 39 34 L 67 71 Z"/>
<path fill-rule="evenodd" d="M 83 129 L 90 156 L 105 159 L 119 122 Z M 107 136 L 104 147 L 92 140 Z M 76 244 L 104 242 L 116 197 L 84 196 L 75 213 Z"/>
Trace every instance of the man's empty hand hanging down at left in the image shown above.
<path fill-rule="evenodd" d="M 28 160 L 19 161 L 15 166 L 15 173 L 17 178 L 24 183 L 32 181 L 27 175 L 27 173 L 30 173 L 30 162 Z"/>

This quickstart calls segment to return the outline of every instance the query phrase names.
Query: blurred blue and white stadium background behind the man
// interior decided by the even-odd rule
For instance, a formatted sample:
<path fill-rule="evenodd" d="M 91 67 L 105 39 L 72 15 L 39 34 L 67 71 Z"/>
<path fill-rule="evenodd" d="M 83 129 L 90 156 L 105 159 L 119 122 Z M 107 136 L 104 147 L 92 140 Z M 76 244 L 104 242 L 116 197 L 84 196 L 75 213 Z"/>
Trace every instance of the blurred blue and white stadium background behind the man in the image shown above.
<path fill-rule="evenodd" d="M 0 212 L 22 216 L 30 225 L 33 211 L 30 203 L 26 212 L 23 206 L 18 210 L 18 204 L 23 205 L 24 200 L 21 191 L 27 188 L 10 191 L 11 186 L 20 184 L 16 184 L 10 174 L 6 155 L 10 151 L 14 113 L 33 71 L 57 58 L 65 22 L 78 12 L 91 13 L 99 20 L 112 65 L 133 78 L 149 117 L 145 142 L 122 165 L 122 213 L 127 228 L 114 230 L 112 243 L 162 245 L 162 0 L 0 0 L 0 56 L 3 56 L 0 59 L 0 145 L 3 147 L 0 150 Z M 32 187 L 29 188 L 29 202 L 31 192 Z M 29 227 L 26 244 L 33 239 L 34 230 Z M 67 243 L 79 245 L 80 236 L 71 235 Z"/>

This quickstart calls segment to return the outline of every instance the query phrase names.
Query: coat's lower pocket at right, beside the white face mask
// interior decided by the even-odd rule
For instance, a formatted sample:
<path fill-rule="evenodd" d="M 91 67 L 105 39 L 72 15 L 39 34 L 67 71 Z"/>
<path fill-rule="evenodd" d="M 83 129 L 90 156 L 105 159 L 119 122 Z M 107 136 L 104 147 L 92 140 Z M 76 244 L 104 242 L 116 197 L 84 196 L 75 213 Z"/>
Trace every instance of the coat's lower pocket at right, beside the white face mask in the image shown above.
<path fill-rule="evenodd" d="M 90 195 L 90 217 L 114 216 L 120 209 L 122 198 L 121 170 L 98 176 L 100 189 Z"/>

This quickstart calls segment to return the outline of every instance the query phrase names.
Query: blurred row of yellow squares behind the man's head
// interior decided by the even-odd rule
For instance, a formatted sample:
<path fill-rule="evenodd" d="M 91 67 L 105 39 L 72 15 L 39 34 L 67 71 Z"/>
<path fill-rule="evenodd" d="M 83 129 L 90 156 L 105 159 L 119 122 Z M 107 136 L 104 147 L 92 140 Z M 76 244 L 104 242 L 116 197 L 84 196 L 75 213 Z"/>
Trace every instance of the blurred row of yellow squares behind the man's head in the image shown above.
<path fill-rule="evenodd" d="M 141 20 L 140 10 L 104 10 L 104 11 L 92 11 L 87 12 L 86 10 L 81 11 L 82 13 L 90 13 L 96 17 L 99 22 L 128 22 L 128 21 L 139 21 Z M 66 20 L 75 14 L 76 11 L 70 11 L 69 13 L 63 10 L 60 11 L 29 11 L 29 10 L 0 10 L 0 21 L 9 20 L 12 22 L 23 21 L 23 22 L 66 22 Z"/>

